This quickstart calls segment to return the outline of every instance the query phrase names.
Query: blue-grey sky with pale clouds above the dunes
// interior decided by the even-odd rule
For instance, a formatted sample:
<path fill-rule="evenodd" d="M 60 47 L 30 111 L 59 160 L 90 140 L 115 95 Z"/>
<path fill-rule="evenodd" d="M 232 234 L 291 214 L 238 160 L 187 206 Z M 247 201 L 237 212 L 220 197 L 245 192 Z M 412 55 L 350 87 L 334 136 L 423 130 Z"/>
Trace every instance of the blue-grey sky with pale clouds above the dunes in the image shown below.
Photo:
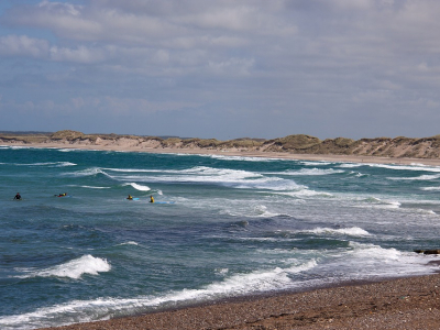
<path fill-rule="evenodd" d="M 440 134 L 438 0 L 1 0 L 0 131 Z"/>

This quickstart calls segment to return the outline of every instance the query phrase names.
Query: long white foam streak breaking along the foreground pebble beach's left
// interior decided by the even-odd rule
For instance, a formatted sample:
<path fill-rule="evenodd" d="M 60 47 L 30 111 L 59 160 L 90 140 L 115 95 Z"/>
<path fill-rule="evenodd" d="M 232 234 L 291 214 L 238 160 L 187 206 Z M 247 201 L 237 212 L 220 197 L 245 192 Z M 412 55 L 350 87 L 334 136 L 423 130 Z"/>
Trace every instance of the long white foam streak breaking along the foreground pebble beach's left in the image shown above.
<path fill-rule="evenodd" d="M 255 292 L 283 289 L 295 283 L 289 275 L 298 274 L 317 266 L 315 260 L 294 264 L 287 268 L 255 271 L 248 274 L 234 274 L 222 282 L 212 283 L 199 289 L 183 289 L 163 296 L 141 296 L 136 298 L 99 298 L 94 300 L 73 300 L 66 304 L 38 308 L 35 311 L 0 317 L 0 326 L 10 329 L 33 329 L 70 323 L 97 321 L 114 316 L 144 312 L 147 308 L 175 306 L 188 301 L 208 301 L 224 297 L 240 296 Z M 220 275 L 229 274 L 228 268 L 216 272 Z M 25 324 L 23 327 L 23 324 Z"/>

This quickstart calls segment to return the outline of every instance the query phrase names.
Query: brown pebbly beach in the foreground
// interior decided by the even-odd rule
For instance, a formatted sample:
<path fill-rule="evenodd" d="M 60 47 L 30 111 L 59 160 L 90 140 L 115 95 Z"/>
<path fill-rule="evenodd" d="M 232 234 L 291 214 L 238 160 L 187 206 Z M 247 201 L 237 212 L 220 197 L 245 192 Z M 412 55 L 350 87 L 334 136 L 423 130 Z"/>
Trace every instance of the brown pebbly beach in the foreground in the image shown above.
<path fill-rule="evenodd" d="M 439 329 L 440 275 L 213 301 L 58 330 Z"/>

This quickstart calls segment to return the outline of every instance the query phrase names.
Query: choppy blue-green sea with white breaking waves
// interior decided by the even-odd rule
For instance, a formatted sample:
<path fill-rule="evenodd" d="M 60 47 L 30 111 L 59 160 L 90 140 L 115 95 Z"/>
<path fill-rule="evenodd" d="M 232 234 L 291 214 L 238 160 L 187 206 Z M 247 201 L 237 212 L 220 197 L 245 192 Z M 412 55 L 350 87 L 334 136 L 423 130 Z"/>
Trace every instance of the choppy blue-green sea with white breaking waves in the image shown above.
<path fill-rule="evenodd" d="M 440 167 L 0 146 L 0 183 L 1 329 L 438 271 Z"/>

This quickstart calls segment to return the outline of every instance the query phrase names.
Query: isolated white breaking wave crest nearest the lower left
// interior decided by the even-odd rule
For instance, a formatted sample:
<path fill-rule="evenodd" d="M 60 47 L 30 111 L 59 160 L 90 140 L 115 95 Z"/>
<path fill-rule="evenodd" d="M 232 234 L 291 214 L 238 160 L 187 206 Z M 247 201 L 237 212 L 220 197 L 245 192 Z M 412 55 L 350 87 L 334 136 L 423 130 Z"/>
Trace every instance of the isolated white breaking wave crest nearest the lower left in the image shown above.
<path fill-rule="evenodd" d="M 84 274 L 98 275 L 102 272 L 109 272 L 110 264 L 105 258 L 94 257 L 90 254 L 72 260 L 67 263 L 48 267 L 42 271 L 32 271 L 30 274 L 20 275 L 20 278 L 29 277 L 69 277 L 74 279 L 80 278 Z"/>

